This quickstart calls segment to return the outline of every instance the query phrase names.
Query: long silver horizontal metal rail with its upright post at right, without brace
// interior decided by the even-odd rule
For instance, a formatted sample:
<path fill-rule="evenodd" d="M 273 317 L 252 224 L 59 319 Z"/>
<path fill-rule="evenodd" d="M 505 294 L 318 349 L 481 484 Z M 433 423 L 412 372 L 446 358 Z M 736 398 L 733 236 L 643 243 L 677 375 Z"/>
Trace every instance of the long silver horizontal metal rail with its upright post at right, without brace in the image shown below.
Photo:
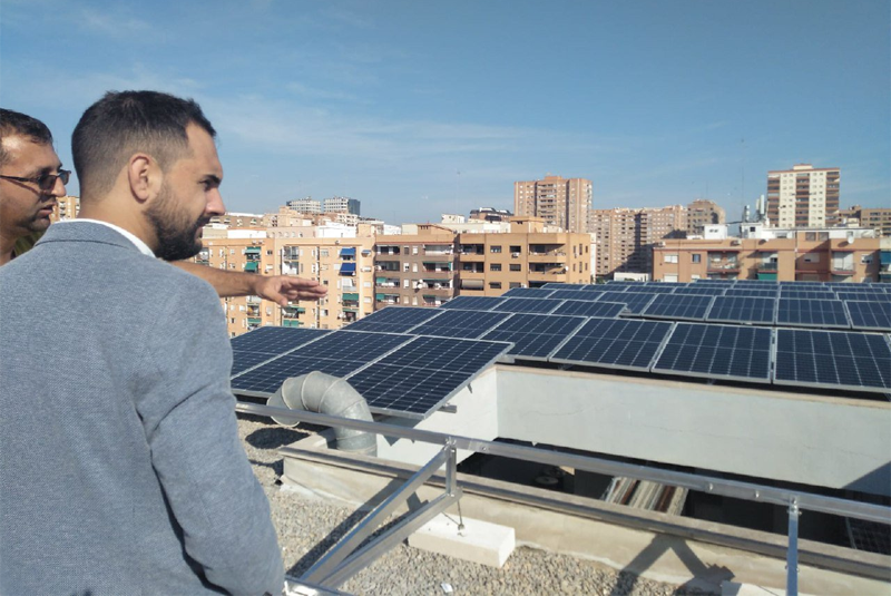
<path fill-rule="evenodd" d="M 814 495 L 812 492 L 796 492 L 776 487 L 755 485 L 752 482 L 740 482 L 736 480 L 726 480 L 724 478 L 714 478 L 672 470 L 660 470 L 658 468 L 650 468 L 647 466 L 623 463 L 600 458 L 549 451 L 533 447 L 486 441 L 481 439 L 473 439 L 471 437 L 444 434 L 429 430 L 419 430 L 414 428 L 399 427 L 395 424 L 386 424 L 383 422 L 353 420 L 315 412 L 272 408 L 270 406 L 261 406 L 255 403 L 239 402 L 235 406 L 235 410 L 241 413 L 263 417 L 275 416 L 276 418 L 281 419 L 291 418 L 295 421 L 309 422 L 311 424 L 319 424 L 323 427 L 342 427 L 363 430 L 368 432 L 374 432 L 376 434 L 383 434 L 385 437 L 398 437 L 425 443 L 441 444 L 447 448 L 451 448 L 452 450 L 464 449 L 477 453 L 501 456 L 549 466 L 566 466 L 576 470 L 584 470 L 608 476 L 626 476 L 637 478 L 639 480 L 648 480 L 663 485 L 683 487 L 689 490 L 719 495 L 722 497 L 732 497 L 748 501 L 785 506 L 787 507 L 789 511 L 786 594 L 790 596 L 797 594 L 797 530 L 799 517 L 802 510 L 820 511 L 823 514 L 853 517 L 856 519 L 865 519 L 879 524 L 891 525 L 891 507 L 840 499 L 836 497 L 825 497 L 823 495 Z M 437 458 L 434 458 L 434 460 L 435 459 Z M 431 460 L 431 463 L 432 462 L 433 460 Z M 428 466 L 430 466 L 430 463 L 428 463 Z M 422 469 L 425 468 L 427 466 Z M 418 473 L 420 473 L 420 471 Z M 430 473 L 432 475 L 432 472 Z M 454 473 L 449 473 L 452 478 L 451 482 L 453 482 Z M 460 490 L 453 483 L 450 486 L 453 486 L 456 491 Z M 352 559 L 347 559 L 344 561 L 344 564 L 347 565 L 351 560 Z"/>

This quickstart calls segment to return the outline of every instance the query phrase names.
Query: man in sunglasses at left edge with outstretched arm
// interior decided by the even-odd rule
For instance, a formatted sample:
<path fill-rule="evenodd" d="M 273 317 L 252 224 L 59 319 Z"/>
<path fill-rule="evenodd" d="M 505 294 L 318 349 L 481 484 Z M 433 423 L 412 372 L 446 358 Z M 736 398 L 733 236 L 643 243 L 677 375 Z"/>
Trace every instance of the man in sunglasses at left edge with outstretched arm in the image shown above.
<path fill-rule="evenodd" d="M 43 123 L 0 108 L 0 266 L 40 240 L 70 175 L 61 168 Z M 317 300 L 327 292 L 319 282 L 300 277 L 222 271 L 185 261 L 175 265 L 208 282 L 221 297 L 257 295 L 286 306 L 288 300 Z"/>

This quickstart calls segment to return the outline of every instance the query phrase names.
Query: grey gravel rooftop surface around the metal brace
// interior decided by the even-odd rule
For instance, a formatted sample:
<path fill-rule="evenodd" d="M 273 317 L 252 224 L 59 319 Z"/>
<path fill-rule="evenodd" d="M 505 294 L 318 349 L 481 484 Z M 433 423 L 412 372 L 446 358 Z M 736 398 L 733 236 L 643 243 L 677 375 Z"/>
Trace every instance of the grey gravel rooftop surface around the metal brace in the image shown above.
<path fill-rule="evenodd" d="M 277 448 L 302 439 L 304 430 L 238 414 L 238 431 L 254 472 L 266 490 L 278 530 L 285 573 L 300 577 L 362 514 L 339 502 L 281 490 L 284 463 Z M 501 569 L 421 551 L 402 544 L 360 571 L 340 589 L 350 594 L 590 594 L 662 596 L 709 594 L 650 582 L 595 561 L 518 547 Z"/>

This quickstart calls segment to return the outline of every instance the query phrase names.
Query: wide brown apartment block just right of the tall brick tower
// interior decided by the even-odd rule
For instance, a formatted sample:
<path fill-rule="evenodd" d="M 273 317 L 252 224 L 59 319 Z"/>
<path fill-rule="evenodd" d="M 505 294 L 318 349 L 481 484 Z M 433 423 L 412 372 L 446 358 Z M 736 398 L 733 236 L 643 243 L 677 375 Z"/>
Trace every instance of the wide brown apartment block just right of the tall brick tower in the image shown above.
<path fill-rule="evenodd" d="M 617 272 L 649 273 L 653 244 L 686 235 L 687 209 L 683 205 L 594 209 L 588 229 L 597 245 L 596 276 L 606 277 Z"/>

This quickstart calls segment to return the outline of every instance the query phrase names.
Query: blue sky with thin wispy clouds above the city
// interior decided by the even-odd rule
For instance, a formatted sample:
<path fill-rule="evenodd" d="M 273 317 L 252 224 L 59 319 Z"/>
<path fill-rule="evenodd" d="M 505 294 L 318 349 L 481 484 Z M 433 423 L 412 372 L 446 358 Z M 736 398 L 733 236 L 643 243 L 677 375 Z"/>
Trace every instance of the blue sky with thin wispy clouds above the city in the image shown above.
<path fill-rule="evenodd" d="M 0 106 L 70 164 L 106 90 L 194 97 L 238 212 L 345 195 L 435 222 L 551 173 L 596 208 L 738 218 L 796 163 L 891 207 L 889 23 L 887 0 L 0 0 Z"/>

